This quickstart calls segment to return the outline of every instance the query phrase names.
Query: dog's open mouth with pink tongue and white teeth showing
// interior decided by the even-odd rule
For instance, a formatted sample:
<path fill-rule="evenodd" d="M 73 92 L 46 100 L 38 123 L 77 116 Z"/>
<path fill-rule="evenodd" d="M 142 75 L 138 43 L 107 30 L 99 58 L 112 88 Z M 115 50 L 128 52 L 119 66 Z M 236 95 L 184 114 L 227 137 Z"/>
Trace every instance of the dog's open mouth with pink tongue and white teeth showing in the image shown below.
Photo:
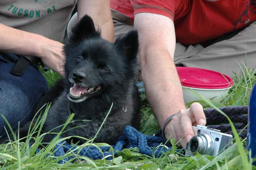
<path fill-rule="evenodd" d="M 74 84 L 72 87 L 70 87 L 68 99 L 72 102 L 82 102 L 87 99 L 86 96 L 89 96 L 91 94 L 94 94 L 95 92 L 99 91 L 101 89 L 101 86 L 97 87 L 82 87 L 78 84 Z"/>

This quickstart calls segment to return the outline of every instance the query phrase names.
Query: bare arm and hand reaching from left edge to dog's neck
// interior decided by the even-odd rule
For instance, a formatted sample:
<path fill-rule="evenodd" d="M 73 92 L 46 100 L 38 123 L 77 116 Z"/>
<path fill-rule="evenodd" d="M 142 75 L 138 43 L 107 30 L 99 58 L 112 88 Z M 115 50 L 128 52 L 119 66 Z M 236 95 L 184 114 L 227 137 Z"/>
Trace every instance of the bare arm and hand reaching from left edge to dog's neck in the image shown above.
<path fill-rule="evenodd" d="M 0 23 L 0 51 L 37 56 L 48 67 L 64 75 L 63 44 L 44 36 L 8 27 Z"/>

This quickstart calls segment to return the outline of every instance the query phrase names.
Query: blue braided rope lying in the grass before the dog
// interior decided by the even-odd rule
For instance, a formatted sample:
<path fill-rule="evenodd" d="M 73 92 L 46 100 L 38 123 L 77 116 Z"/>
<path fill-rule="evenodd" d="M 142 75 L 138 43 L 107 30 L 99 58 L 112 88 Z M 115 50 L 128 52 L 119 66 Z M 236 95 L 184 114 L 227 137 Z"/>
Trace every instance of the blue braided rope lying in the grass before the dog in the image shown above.
<path fill-rule="evenodd" d="M 61 137 L 60 137 L 61 138 Z M 151 135 L 145 135 L 133 128 L 132 126 L 125 127 L 124 135 L 119 137 L 116 145 L 112 146 L 114 149 L 114 155 L 116 155 L 117 151 L 121 151 L 125 148 L 130 147 L 138 147 L 140 150 L 140 153 L 151 156 L 151 157 L 160 157 L 162 153 L 165 153 L 168 150 L 172 150 L 172 146 L 169 144 L 163 145 L 164 141 L 161 137 L 157 136 L 151 136 Z M 78 153 L 81 156 L 86 156 L 91 159 L 102 159 L 103 155 L 104 157 L 107 157 L 108 155 L 112 155 L 113 152 L 110 150 L 110 146 L 100 146 L 102 153 L 99 151 L 99 149 L 95 146 L 86 146 L 82 149 L 76 149 L 77 146 L 69 145 L 67 142 L 62 141 L 59 142 L 54 147 L 54 156 L 55 157 L 61 157 L 65 153 L 73 150 L 74 153 Z M 89 148 L 88 148 L 89 147 Z M 37 149 L 36 154 L 40 152 L 39 149 Z M 58 163 L 65 163 L 69 161 L 70 159 L 74 158 L 75 155 L 72 155 L 70 157 L 66 157 L 59 161 Z M 108 156 L 106 159 L 112 159 L 112 156 Z"/>

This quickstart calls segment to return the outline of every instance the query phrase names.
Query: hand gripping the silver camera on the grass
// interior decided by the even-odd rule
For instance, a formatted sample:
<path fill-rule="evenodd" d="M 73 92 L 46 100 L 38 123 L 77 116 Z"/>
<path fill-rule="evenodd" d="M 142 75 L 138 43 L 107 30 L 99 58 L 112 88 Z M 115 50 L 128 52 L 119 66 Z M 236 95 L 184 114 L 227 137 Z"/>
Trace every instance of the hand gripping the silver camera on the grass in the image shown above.
<path fill-rule="evenodd" d="M 205 126 L 206 117 L 203 112 L 203 107 L 199 103 L 192 103 L 190 108 L 180 110 L 172 120 L 166 124 L 165 137 L 168 139 L 175 138 L 180 141 L 183 148 L 187 142 L 195 135 L 192 126 L 197 124 Z"/>

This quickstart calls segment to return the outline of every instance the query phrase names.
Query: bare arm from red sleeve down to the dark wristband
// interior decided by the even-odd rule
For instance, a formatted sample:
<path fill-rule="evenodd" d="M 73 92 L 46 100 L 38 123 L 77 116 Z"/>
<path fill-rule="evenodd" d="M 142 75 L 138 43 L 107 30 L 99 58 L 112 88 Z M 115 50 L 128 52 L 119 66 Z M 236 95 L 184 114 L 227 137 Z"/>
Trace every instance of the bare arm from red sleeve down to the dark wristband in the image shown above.
<path fill-rule="evenodd" d="M 147 99 L 162 127 L 166 118 L 185 108 L 173 63 L 176 44 L 174 24 L 168 17 L 139 13 L 135 15 L 135 28 L 139 34 L 142 79 Z"/>

